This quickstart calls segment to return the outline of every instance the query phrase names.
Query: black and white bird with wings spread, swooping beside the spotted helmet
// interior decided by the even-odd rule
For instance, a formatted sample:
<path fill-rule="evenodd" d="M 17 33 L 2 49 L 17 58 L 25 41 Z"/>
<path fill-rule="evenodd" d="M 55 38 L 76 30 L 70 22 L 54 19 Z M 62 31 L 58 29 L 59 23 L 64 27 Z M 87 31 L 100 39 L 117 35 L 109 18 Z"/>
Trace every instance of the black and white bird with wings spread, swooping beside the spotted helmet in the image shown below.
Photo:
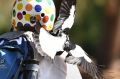
<path fill-rule="evenodd" d="M 51 58 L 54 58 L 57 52 L 63 51 L 61 57 L 63 57 L 67 63 L 80 66 L 88 72 L 93 79 L 102 79 L 103 77 L 101 76 L 98 67 L 88 57 L 86 52 L 79 45 L 71 44 L 69 40 L 68 31 L 74 23 L 75 8 L 76 0 L 61 1 L 59 14 L 57 14 L 58 17 L 56 18 L 53 31 L 51 32 L 52 35 L 43 28 L 40 29 L 39 40 L 41 48 Z M 67 50 L 64 48 L 67 48 Z"/>

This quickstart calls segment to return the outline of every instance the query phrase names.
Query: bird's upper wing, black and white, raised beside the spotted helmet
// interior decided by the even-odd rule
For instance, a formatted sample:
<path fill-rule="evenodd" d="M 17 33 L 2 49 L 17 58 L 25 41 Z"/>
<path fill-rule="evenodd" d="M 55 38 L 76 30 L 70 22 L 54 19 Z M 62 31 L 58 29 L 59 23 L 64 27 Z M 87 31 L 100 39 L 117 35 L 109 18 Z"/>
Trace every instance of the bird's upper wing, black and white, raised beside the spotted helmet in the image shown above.
<path fill-rule="evenodd" d="M 57 12 L 58 14 L 56 14 L 58 17 L 53 28 L 54 33 L 57 33 L 59 30 L 63 31 L 66 28 L 70 29 L 73 26 L 75 18 L 76 0 L 59 0 L 59 2 L 61 2 L 61 6 L 57 7 L 56 5 L 59 13 Z"/>

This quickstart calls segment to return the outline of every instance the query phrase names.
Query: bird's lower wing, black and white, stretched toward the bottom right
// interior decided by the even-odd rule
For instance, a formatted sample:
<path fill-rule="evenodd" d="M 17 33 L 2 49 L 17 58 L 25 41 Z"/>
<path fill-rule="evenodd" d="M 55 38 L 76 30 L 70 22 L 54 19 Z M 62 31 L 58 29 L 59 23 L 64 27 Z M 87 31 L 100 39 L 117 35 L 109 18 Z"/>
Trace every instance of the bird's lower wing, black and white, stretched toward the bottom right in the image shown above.
<path fill-rule="evenodd" d="M 66 57 L 66 62 L 70 64 L 77 64 L 87 73 L 89 73 L 93 79 L 103 79 L 97 65 L 87 56 L 85 51 L 78 45 L 76 48 L 70 51 L 70 55 Z"/>

